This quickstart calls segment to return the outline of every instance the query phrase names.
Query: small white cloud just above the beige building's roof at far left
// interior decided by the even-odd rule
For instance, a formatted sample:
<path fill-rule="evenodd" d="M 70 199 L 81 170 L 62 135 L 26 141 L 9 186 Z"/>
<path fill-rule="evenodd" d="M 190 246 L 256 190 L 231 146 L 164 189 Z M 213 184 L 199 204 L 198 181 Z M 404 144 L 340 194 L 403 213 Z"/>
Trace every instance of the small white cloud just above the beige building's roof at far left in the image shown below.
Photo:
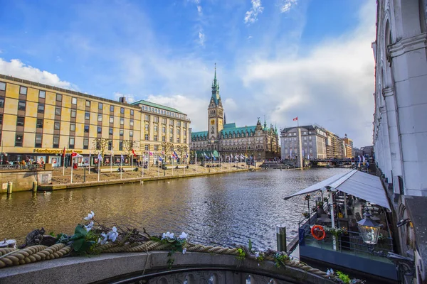
<path fill-rule="evenodd" d="M 64 89 L 78 90 L 74 84 L 60 80 L 58 75 L 26 65 L 18 59 L 12 59 L 8 62 L 0 58 L 0 73 Z"/>

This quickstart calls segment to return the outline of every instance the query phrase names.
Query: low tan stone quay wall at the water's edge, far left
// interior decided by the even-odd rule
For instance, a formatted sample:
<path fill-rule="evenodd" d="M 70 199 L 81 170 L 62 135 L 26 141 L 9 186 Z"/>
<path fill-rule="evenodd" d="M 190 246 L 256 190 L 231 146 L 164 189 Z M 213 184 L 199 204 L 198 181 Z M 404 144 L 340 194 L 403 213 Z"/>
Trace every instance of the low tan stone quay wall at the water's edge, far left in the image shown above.
<path fill-rule="evenodd" d="M 13 182 L 13 192 L 31 190 L 33 182 L 38 185 L 49 184 L 52 180 L 52 170 L 1 170 L 0 193 L 7 192 L 7 183 Z"/>

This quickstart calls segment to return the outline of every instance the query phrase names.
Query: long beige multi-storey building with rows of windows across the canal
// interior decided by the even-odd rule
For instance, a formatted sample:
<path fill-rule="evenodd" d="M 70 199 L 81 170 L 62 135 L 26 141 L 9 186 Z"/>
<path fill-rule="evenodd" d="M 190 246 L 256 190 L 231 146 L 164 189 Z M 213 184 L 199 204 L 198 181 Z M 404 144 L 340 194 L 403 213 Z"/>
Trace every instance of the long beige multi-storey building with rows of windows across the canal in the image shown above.
<path fill-rule="evenodd" d="M 0 141 L 2 160 L 31 159 L 63 165 L 62 153 L 83 155 L 80 164 L 97 163 L 96 141 L 107 142 L 104 163 L 120 162 L 129 144 L 150 162 L 162 141 L 188 147 L 186 114 L 151 102 L 127 104 L 0 75 Z M 131 150 L 132 150 L 131 149 Z M 169 149 L 170 150 L 170 149 Z M 91 159 L 89 156 L 91 154 Z M 166 155 L 168 153 L 165 153 Z M 65 163 L 69 163 L 65 158 Z"/>

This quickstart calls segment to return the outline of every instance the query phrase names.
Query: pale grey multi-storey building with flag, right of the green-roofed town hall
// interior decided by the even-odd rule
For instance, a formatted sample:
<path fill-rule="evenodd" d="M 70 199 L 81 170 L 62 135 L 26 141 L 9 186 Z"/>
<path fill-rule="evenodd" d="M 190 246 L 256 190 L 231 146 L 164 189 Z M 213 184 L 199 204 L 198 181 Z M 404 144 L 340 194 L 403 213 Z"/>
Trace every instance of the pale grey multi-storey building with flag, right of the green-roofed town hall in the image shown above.
<path fill-rule="evenodd" d="M 301 132 L 301 141 L 298 129 Z M 299 143 L 301 143 L 301 154 L 304 159 L 327 158 L 327 133 L 319 126 L 288 127 L 281 131 L 280 138 L 283 160 L 296 159 L 300 155 Z"/>

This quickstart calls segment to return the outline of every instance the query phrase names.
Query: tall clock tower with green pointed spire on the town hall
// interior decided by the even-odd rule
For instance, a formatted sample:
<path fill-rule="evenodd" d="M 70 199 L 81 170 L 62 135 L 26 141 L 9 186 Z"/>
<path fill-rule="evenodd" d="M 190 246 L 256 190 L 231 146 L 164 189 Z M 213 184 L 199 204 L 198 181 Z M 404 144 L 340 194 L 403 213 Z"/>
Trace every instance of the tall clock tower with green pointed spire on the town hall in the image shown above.
<path fill-rule="evenodd" d="M 219 95 L 219 84 L 216 80 L 216 63 L 215 76 L 212 82 L 212 96 L 208 107 L 208 137 L 210 141 L 217 141 L 219 133 L 223 129 L 224 110 L 222 107 L 221 97 Z M 215 142 L 216 150 L 218 150 L 217 142 Z"/>

